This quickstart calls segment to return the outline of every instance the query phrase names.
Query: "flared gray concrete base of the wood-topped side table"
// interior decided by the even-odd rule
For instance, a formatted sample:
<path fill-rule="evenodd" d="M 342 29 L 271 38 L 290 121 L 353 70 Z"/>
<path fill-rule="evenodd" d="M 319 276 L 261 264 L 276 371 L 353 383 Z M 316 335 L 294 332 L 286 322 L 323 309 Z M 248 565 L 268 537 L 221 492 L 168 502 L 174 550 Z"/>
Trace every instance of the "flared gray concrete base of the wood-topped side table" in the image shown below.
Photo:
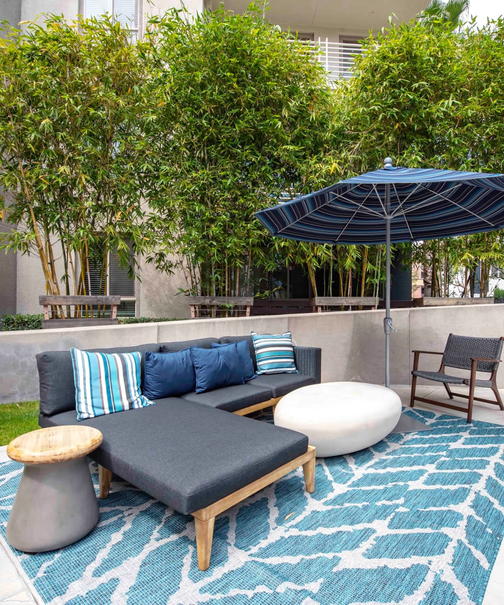
<path fill-rule="evenodd" d="M 98 502 L 86 456 L 26 464 L 7 523 L 7 541 L 24 552 L 45 552 L 87 535 Z"/>

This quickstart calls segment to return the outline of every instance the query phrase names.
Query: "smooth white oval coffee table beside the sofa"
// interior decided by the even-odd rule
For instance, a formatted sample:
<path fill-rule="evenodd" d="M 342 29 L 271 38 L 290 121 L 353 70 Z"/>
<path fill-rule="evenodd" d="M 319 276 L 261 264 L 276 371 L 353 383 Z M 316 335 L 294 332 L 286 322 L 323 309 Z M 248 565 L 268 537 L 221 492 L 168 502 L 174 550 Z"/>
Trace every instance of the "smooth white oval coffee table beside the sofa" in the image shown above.
<path fill-rule="evenodd" d="M 319 457 L 363 450 L 398 423 L 401 399 L 390 388 L 365 382 L 323 382 L 288 393 L 275 409 L 275 425 L 308 436 Z"/>

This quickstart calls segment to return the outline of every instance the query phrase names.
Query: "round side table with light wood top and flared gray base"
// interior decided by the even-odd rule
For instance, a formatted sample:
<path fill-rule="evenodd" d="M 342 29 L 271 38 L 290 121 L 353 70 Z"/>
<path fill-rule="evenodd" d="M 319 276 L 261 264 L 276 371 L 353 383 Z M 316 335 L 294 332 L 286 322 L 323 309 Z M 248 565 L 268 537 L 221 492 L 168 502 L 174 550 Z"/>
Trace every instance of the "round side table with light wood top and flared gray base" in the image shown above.
<path fill-rule="evenodd" d="M 24 464 L 7 523 L 7 541 L 24 552 L 45 552 L 87 535 L 98 502 L 86 460 L 102 443 L 92 427 L 42 428 L 16 437 L 7 456 Z"/>

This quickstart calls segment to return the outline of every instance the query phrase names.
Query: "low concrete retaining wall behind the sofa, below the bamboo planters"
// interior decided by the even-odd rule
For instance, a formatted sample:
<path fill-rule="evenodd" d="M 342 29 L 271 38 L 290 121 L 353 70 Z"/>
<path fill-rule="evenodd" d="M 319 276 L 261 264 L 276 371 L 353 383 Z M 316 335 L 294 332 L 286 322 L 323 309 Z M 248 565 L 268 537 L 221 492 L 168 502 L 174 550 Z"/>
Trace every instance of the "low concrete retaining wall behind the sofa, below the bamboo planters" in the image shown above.
<path fill-rule="evenodd" d="M 408 384 L 411 350 L 442 351 L 448 334 L 504 335 L 504 305 L 395 309 L 391 312 L 391 384 Z M 350 311 L 230 319 L 193 319 L 160 324 L 112 325 L 0 332 L 0 403 L 38 399 L 35 354 L 70 347 L 108 348 L 205 336 L 280 333 L 290 330 L 298 345 L 322 348 L 322 381 L 384 382 L 384 313 Z M 439 358 L 425 356 L 422 367 L 437 369 Z M 499 387 L 504 388 L 504 370 Z"/>

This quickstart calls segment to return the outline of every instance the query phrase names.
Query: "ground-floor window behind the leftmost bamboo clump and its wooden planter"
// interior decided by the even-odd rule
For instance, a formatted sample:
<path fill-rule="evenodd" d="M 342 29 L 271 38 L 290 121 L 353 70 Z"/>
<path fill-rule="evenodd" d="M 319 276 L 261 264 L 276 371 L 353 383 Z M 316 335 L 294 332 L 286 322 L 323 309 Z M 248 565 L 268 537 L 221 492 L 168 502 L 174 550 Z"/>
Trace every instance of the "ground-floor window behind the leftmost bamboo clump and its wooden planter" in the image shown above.
<path fill-rule="evenodd" d="M 133 258 L 133 250 L 129 247 Z M 122 298 L 117 307 L 118 317 L 134 317 L 136 310 L 135 278 L 129 277 L 128 269 L 119 266 L 114 252 L 108 254 L 108 272 L 102 272 L 99 264 L 90 266 L 91 295 L 103 293 L 103 280 L 106 280 L 106 293 L 108 295 L 119 294 Z"/>

